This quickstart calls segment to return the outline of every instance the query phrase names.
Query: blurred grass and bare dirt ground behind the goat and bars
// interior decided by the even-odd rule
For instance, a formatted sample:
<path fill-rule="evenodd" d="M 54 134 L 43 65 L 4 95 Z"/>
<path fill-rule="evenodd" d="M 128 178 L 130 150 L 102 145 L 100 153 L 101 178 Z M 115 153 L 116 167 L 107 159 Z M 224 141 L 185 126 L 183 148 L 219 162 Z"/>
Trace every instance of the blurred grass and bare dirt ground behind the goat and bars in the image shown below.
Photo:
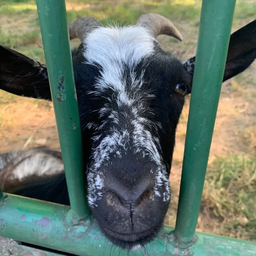
<path fill-rule="evenodd" d="M 135 24 L 156 12 L 172 20 L 183 42 L 161 35 L 164 50 L 181 60 L 196 52 L 201 0 L 67 0 L 68 21 L 95 16 L 103 25 Z M 237 0 L 232 32 L 256 18 L 256 0 Z M 0 1 L 0 44 L 45 63 L 35 0 Z M 73 40 L 71 45 L 79 44 Z M 189 97 L 177 130 L 171 169 L 172 202 L 166 223 L 175 225 Z M 0 152 L 48 146 L 59 149 L 51 102 L 0 90 Z M 215 123 L 198 231 L 256 241 L 256 64 L 226 81 Z"/>

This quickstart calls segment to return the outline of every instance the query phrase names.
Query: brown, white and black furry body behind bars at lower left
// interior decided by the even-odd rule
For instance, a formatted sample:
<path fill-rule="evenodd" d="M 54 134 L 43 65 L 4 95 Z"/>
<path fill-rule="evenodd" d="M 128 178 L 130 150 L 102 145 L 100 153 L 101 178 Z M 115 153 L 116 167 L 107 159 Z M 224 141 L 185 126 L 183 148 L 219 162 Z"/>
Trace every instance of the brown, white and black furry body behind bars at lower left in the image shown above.
<path fill-rule="evenodd" d="M 0 154 L 0 187 L 6 193 L 19 191 L 20 196 L 68 205 L 69 198 L 57 191 L 63 181 L 64 166 L 57 150 L 35 148 Z"/>

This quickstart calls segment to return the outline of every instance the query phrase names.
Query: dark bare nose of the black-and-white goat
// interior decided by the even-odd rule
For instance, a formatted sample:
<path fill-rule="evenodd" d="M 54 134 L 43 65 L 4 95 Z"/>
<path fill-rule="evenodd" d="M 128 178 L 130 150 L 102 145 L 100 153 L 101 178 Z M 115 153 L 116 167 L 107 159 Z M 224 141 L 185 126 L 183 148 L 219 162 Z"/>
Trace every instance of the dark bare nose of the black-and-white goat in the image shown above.
<path fill-rule="evenodd" d="M 124 206 L 130 207 L 139 205 L 143 198 L 147 197 L 153 189 L 154 180 L 144 179 L 139 184 L 111 182 L 108 189 L 112 191 Z"/>

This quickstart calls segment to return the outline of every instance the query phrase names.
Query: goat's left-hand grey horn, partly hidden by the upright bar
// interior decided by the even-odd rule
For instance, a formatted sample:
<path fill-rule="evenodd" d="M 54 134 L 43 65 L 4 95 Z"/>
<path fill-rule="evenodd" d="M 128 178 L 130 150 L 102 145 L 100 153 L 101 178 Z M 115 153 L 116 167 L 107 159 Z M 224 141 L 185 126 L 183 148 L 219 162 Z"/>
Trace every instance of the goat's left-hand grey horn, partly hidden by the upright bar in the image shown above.
<path fill-rule="evenodd" d="M 79 38 L 82 42 L 90 31 L 102 27 L 101 23 L 94 17 L 79 17 L 69 23 L 69 39 Z"/>

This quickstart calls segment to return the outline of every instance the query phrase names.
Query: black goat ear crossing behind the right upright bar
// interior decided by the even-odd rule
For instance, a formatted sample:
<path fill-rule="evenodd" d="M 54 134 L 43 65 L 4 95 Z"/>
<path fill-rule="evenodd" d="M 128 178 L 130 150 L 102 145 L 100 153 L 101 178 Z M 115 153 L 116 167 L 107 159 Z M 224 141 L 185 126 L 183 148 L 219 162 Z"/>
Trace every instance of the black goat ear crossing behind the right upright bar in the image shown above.
<path fill-rule="evenodd" d="M 230 36 L 223 82 L 245 71 L 256 58 L 256 20 Z M 182 63 L 192 76 L 196 56 Z M 191 91 L 190 91 L 191 92 Z"/>

